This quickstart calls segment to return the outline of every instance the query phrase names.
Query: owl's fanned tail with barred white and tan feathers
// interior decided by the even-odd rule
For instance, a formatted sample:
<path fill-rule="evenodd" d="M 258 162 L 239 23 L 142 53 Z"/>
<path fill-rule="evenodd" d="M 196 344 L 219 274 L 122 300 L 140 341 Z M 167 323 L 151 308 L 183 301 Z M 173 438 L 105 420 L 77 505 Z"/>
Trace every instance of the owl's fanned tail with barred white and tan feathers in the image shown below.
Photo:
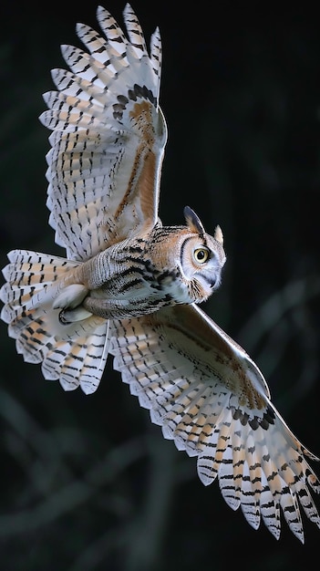
<path fill-rule="evenodd" d="M 14 250 L 8 258 L 1 318 L 17 352 L 28 363 L 42 363 L 45 379 L 59 380 L 63 389 L 80 385 L 86 394 L 94 392 L 108 356 L 108 321 L 88 314 L 64 325 L 55 308 L 61 278 L 81 262 L 26 250 Z"/>

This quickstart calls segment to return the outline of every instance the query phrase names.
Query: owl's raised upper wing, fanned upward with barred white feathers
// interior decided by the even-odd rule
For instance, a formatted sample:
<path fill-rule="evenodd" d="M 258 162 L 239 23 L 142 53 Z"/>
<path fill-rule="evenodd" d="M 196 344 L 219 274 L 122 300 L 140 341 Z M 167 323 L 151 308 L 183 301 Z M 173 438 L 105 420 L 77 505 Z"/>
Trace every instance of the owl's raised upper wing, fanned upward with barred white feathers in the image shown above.
<path fill-rule="evenodd" d="M 105 37 L 77 25 L 88 52 L 62 46 L 70 70 L 52 70 L 57 91 L 44 95 L 48 110 L 40 120 L 53 130 L 46 155 L 49 223 L 71 259 L 88 259 L 158 217 L 167 139 L 159 108 L 160 32 L 151 36 L 149 56 L 129 5 L 123 14 L 129 40 L 101 6 Z"/>

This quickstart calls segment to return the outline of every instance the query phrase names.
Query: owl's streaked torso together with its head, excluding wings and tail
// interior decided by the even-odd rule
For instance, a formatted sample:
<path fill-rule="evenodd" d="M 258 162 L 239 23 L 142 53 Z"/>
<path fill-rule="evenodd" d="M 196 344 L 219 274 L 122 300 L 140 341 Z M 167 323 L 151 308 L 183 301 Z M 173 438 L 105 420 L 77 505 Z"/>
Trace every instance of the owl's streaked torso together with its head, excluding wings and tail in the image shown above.
<path fill-rule="evenodd" d="M 226 259 L 222 232 L 206 234 L 197 215 L 190 208 L 186 213 L 187 226 L 156 223 L 70 269 L 53 299 L 60 322 L 139 317 L 211 296 Z"/>

